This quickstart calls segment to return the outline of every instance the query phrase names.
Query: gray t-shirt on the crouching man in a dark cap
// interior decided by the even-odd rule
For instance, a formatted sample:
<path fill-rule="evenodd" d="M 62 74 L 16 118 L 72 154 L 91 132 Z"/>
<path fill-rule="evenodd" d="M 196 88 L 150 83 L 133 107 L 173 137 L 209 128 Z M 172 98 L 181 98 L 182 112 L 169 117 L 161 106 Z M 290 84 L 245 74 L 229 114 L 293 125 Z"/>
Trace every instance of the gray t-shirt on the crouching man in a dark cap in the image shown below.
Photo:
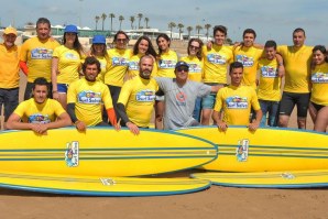
<path fill-rule="evenodd" d="M 193 118 L 196 98 L 209 95 L 211 87 L 192 80 L 179 87 L 175 78 L 156 77 L 155 80 L 165 97 L 164 129 L 198 124 Z"/>

